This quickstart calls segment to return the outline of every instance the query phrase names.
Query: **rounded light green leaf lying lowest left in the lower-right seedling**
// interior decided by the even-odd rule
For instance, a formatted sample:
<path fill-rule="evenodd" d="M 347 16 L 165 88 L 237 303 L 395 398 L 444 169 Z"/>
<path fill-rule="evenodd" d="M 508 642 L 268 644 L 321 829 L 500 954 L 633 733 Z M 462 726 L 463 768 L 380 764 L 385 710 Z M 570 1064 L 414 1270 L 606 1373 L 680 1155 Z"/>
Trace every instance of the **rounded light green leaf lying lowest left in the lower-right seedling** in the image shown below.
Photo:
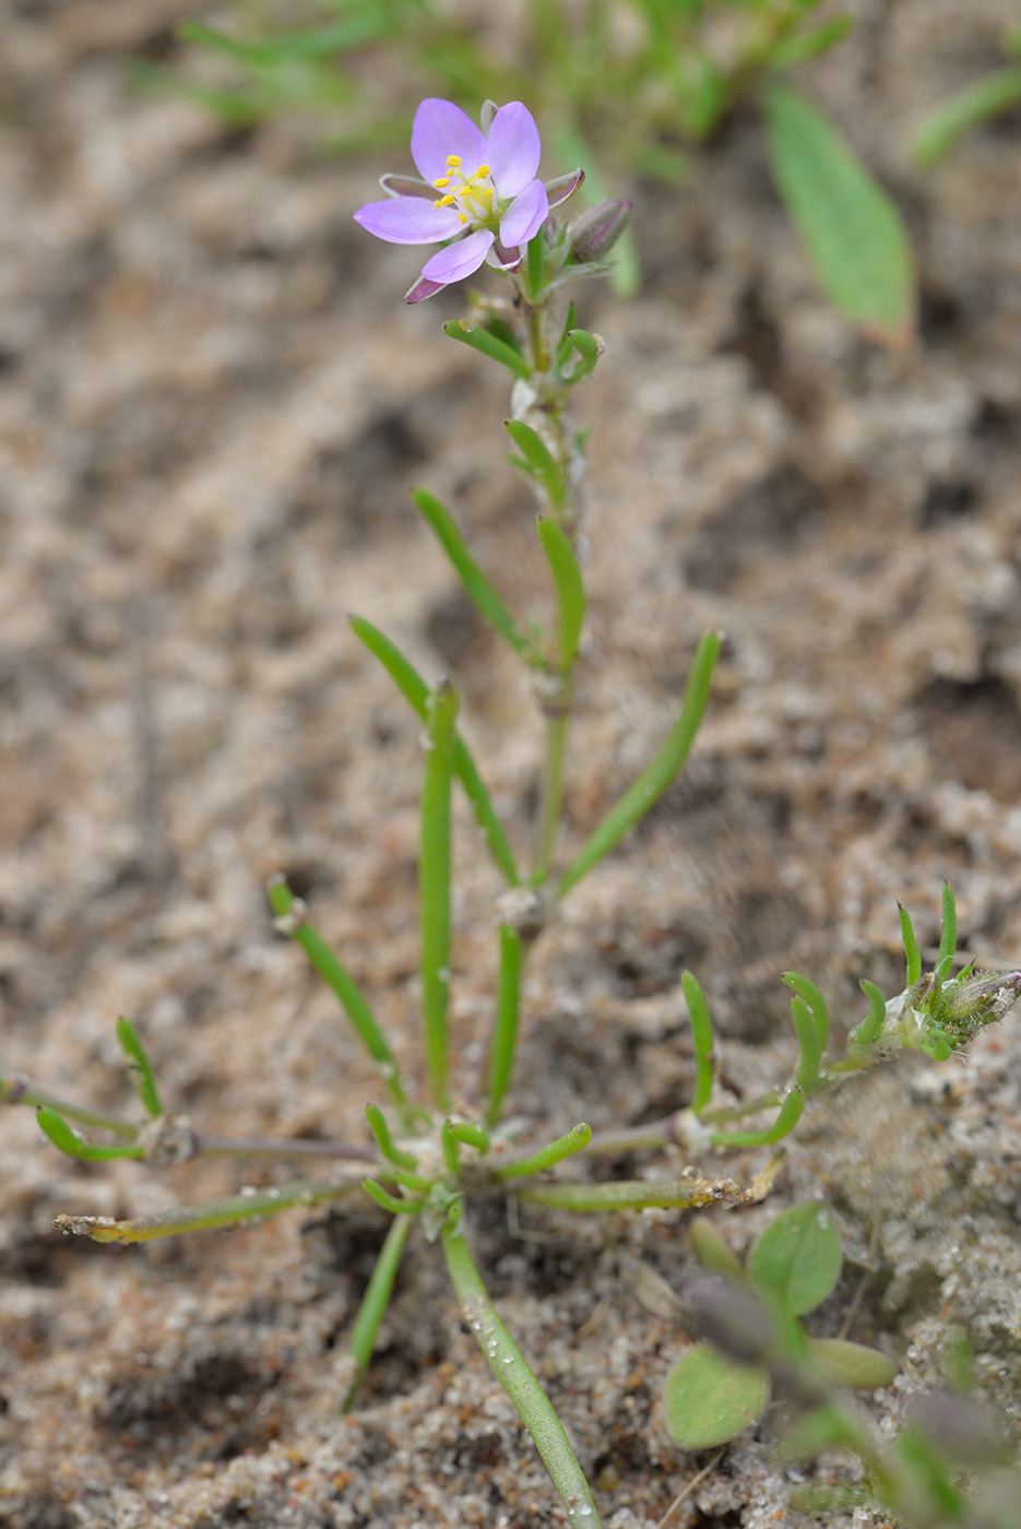
<path fill-rule="evenodd" d="M 695 1344 L 666 1376 L 666 1431 L 682 1449 L 711 1449 L 754 1423 L 769 1402 L 769 1372 L 731 1364 L 709 1344 Z"/>

